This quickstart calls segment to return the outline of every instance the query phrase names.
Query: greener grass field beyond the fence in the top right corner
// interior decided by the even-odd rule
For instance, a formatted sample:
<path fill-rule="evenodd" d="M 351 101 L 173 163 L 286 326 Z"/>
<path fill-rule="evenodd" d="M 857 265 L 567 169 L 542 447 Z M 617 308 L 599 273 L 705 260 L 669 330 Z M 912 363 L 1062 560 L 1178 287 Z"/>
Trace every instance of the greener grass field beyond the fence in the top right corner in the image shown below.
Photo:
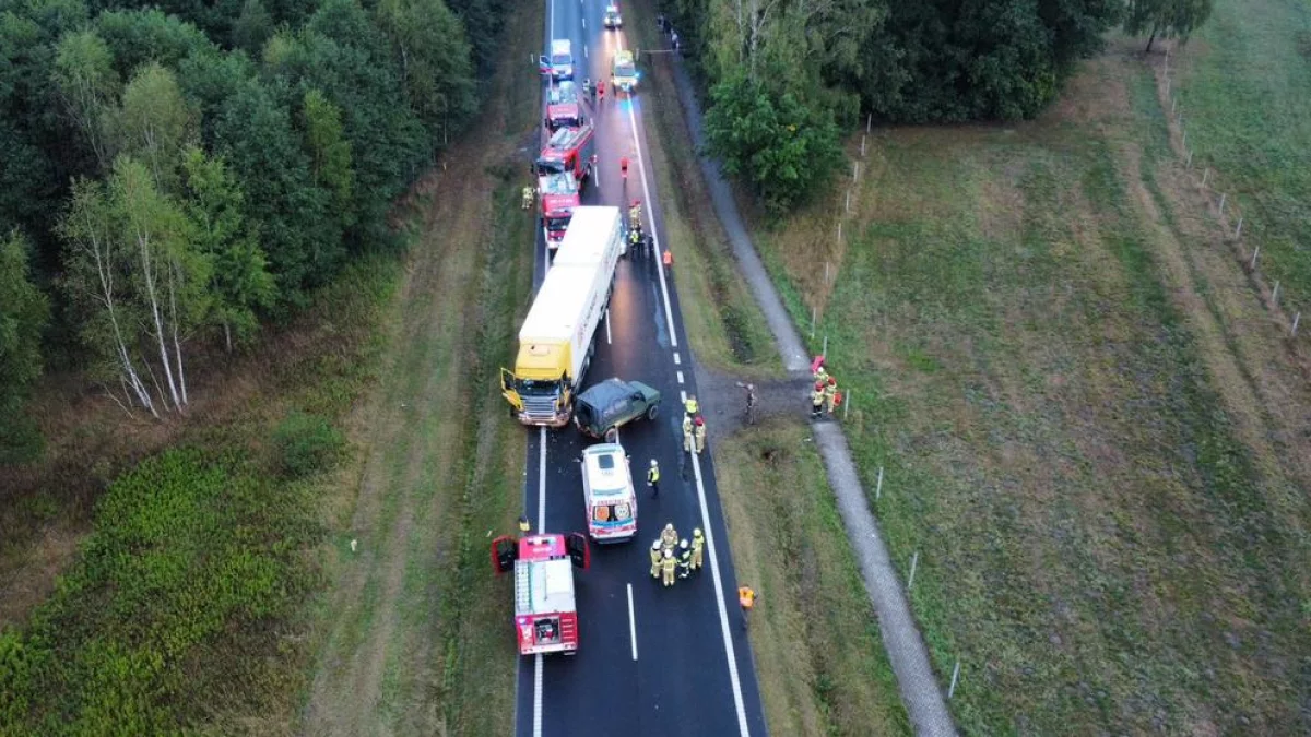
<path fill-rule="evenodd" d="M 1221 0 L 1171 66 L 1211 189 L 1238 205 L 1281 302 L 1311 315 L 1311 5 Z"/>

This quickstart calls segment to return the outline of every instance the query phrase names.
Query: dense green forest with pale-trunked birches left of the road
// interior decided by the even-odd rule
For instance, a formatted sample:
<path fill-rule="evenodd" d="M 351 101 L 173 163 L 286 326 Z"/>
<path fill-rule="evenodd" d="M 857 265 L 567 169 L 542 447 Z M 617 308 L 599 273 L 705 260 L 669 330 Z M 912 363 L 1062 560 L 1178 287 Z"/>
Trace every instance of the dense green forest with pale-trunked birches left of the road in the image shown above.
<path fill-rule="evenodd" d="M 477 111 L 503 0 L 0 0 L 0 463 L 43 366 L 187 405 Z"/>

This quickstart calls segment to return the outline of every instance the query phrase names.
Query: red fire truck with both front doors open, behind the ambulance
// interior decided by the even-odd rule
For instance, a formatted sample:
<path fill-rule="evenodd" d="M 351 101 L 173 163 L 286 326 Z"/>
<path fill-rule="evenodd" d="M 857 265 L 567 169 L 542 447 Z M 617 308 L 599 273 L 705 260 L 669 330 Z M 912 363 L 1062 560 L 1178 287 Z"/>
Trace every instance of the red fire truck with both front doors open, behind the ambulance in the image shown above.
<path fill-rule="evenodd" d="M 573 569 L 590 561 L 587 538 L 570 535 L 503 535 L 492 540 L 497 573 L 514 570 L 514 629 L 519 654 L 574 654 L 578 650 L 578 607 Z"/>

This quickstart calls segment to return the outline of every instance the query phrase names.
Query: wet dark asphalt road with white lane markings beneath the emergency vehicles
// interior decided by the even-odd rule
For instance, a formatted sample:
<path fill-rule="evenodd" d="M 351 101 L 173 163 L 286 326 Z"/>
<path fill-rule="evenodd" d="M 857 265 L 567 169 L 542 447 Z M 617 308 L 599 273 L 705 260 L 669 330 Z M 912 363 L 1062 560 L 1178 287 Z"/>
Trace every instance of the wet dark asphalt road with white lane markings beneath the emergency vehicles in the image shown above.
<path fill-rule="evenodd" d="M 577 81 L 608 79 L 611 55 L 628 46 L 623 31 L 604 30 L 604 0 L 547 1 L 543 50 L 552 38 L 572 38 Z M 659 253 L 665 229 L 641 106 L 638 90 L 631 98 L 607 94 L 593 111 L 599 181 L 589 184 L 582 199 L 583 205 L 620 206 L 625 218 L 627 203 L 642 199 Z M 627 182 L 619 172 L 621 156 L 629 159 Z M 536 249 L 535 285 L 540 285 L 545 271 L 540 235 Z M 680 395 L 695 395 L 696 386 L 678 291 L 671 278 L 661 278 L 661 269 L 657 254 L 620 261 L 585 380 L 590 386 L 610 376 L 638 379 L 663 393 L 654 421 L 641 420 L 620 431 L 638 489 L 638 535 L 632 543 L 594 546 L 591 568 L 576 576 L 579 652 L 520 658 L 515 730 L 522 737 L 767 733 L 713 463 L 708 451 L 694 462 L 680 450 Z M 572 428 L 527 431 L 528 519 L 548 532 L 586 530 L 577 459 L 587 441 Z M 713 445 L 713 426 L 708 439 Z M 662 471 L 656 500 L 645 487 L 652 458 Z M 691 538 L 699 526 L 708 538 L 705 568 L 669 589 L 648 574 L 650 542 L 666 522 L 680 536 Z M 506 637 L 513 636 L 507 622 Z"/>

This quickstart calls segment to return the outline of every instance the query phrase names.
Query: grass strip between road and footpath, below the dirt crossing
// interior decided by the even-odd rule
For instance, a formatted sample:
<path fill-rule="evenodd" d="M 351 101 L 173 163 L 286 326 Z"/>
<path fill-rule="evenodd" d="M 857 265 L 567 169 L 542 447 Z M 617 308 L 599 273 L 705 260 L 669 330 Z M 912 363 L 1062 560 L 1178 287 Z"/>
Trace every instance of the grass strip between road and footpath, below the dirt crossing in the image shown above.
<path fill-rule="evenodd" d="M 714 468 L 738 580 L 760 594 L 751 653 L 770 730 L 910 734 L 809 428 L 720 441 Z"/>

